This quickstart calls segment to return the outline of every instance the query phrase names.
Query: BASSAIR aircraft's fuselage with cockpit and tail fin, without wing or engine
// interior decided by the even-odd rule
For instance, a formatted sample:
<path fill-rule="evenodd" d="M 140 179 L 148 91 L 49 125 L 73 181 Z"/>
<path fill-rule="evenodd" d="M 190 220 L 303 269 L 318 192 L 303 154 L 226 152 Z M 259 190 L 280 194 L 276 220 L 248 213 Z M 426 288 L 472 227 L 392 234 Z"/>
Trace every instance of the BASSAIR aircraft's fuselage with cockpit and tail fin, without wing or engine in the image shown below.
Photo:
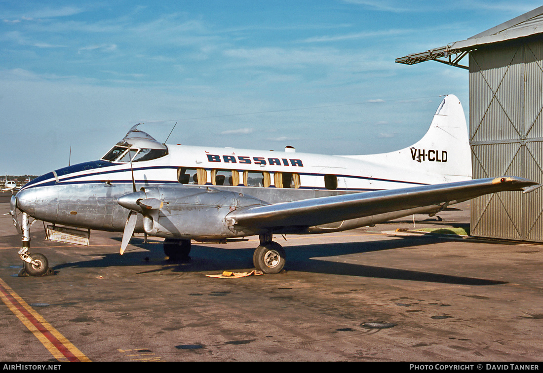
<path fill-rule="evenodd" d="M 24 201 L 30 216 L 46 222 L 122 231 L 128 212 L 117 199 L 142 187 L 213 188 L 262 203 L 281 203 L 471 179 L 467 127 L 462 105 L 454 96 L 443 100 L 419 142 L 373 155 L 166 146 L 136 127 L 102 160 L 30 181 L 17 194 L 19 204 Z M 405 212 L 409 213 L 413 212 Z M 386 218 L 390 216 L 380 219 Z M 136 230 L 141 227 L 138 221 Z"/>

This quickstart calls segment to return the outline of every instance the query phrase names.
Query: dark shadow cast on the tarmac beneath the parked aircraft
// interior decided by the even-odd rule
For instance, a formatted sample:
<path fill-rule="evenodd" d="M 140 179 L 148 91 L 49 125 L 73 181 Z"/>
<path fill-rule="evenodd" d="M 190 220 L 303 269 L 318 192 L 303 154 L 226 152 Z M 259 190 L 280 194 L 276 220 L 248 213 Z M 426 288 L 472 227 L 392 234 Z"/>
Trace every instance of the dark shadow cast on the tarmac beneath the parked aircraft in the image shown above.
<path fill-rule="evenodd" d="M 120 241 L 121 238 L 118 238 Z M 407 239 L 385 239 L 372 242 L 350 242 L 350 243 L 325 243 L 317 245 L 288 246 L 285 248 L 287 254 L 287 271 L 302 271 L 308 273 L 375 277 L 379 279 L 425 281 L 437 283 L 451 283 L 457 285 L 488 286 L 501 285 L 507 282 L 475 277 L 451 276 L 425 271 L 405 270 L 387 267 L 376 267 L 372 265 L 340 263 L 337 261 L 323 260 L 319 258 L 337 257 L 349 254 L 363 254 L 364 252 L 382 251 L 407 248 L 409 246 L 421 246 L 447 242 L 448 240 L 439 237 L 409 237 Z M 58 271 L 62 268 L 104 268 L 142 265 L 153 267 L 149 270 L 139 272 L 153 273 L 158 271 L 171 270 L 172 272 L 220 272 L 245 271 L 254 268 L 252 254 L 254 249 L 222 249 L 204 244 L 193 244 L 191 260 L 187 262 L 172 262 L 164 258 L 161 242 L 144 243 L 143 239 L 132 238 L 131 244 L 146 251 L 125 252 L 123 256 L 118 252 L 106 254 L 89 254 L 90 256 L 102 256 L 99 259 L 89 261 L 71 262 L 55 265 L 53 269 Z M 391 253 L 390 255 L 394 255 Z M 159 267 L 159 268 L 156 268 Z"/>

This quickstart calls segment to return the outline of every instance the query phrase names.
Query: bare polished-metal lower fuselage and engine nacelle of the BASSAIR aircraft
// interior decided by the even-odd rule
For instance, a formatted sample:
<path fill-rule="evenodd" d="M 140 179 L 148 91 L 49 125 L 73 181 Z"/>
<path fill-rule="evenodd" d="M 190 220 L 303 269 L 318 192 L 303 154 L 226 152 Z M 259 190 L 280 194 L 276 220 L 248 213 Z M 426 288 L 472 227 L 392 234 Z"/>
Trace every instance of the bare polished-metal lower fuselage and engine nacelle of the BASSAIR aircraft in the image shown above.
<path fill-rule="evenodd" d="M 239 207 L 345 194 L 343 191 L 311 189 L 269 189 L 258 187 L 207 187 L 198 185 L 136 185 L 147 197 L 165 202 L 153 224 L 144 227 L 138 214 L 136 232 L 147 231 L 157 237 L 224 239 L 259 235 L 266 229 L 234 227 L 226 216 Z M 94 184 L 47 185 L 26 188 L 17 194 L 16 204 L 35 219 L 53 224 L 92 230 L 122 232 L 128 210 L 119 198 L 133 192 L 132 184 L 100 182 Z M 250 192 L 251 195 L 246 193 Z M 350 193 L 349 193 L 350 194 Z M 15 201 L 12 201 L 12 204 Z M 318 226 L 277 227 L 275 233 L 323 233 L 376 224 L 413 213 L 439 211 L 440 206 L 418 207 L 358 219 L 341 220 Z M 147 228 L 147 229 L 146 229 Z"/>

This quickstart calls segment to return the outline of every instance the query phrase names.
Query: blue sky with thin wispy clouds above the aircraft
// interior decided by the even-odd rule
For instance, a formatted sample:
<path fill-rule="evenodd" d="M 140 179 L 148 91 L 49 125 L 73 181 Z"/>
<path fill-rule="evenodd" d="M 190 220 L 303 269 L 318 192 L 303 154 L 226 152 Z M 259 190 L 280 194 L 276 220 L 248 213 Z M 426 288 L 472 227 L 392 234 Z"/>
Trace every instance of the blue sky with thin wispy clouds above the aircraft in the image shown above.
<path fill-rule="evenodd" d="M 130 127 L 169 143 L 371 154 L 424 135 L 468 72 L 395 58 L 536 1 L 0 0 L 0 172 L 99 159 Z M 464 60 L 465 64 L 467 61 Z"/>

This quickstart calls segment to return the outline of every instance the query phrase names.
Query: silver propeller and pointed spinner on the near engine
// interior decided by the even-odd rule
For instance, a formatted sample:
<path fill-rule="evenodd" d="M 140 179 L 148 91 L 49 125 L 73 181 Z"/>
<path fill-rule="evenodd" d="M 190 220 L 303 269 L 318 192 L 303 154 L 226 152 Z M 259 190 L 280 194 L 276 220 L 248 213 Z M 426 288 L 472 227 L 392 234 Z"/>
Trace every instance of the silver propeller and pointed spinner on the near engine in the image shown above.
<path fill-rule="evenodd" d="M 124 254 L 124 250 L 127 249 L 130 238 L 134 234 L 137 214 L 141 213 L 143 216 L 153 219 L 153 216 L 156 216 L 157 212 L 164 205 L 160 199 L 146 197 L 145 191 L 139 191 L 125 194 L 117 199 L 119 205 L 130 210 L 127 223 L 124 225 L 123 239 L 121 241 L 121 255 Z"/>

